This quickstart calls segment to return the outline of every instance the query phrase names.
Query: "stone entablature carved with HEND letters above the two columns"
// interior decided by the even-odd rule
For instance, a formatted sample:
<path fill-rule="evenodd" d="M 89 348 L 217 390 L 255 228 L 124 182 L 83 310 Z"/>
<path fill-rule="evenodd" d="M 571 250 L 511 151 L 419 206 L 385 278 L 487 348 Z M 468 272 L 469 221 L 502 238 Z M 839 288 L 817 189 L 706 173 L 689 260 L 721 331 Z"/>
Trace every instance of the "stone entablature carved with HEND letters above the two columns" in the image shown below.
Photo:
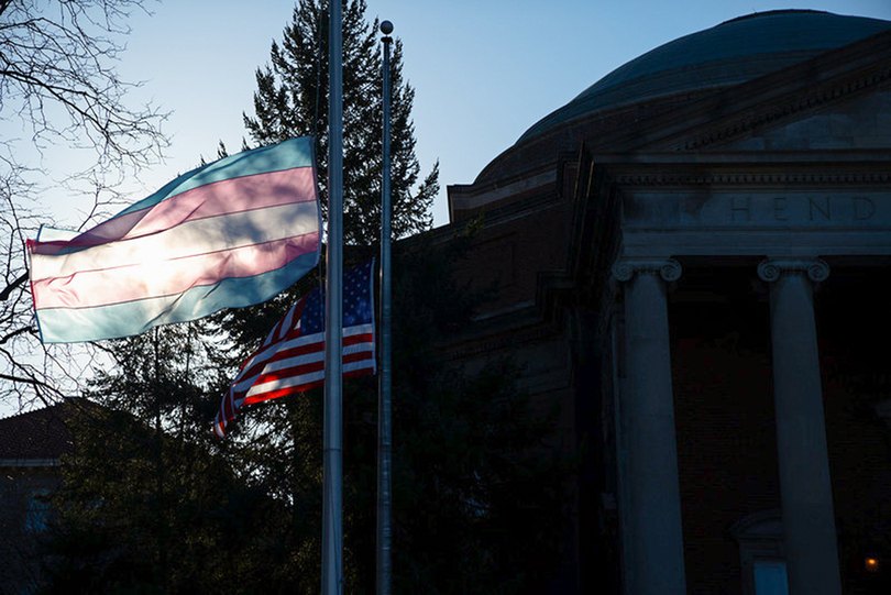
<path fill-rule="evenodd" d="M 888 256 L 886 153 L 640 153 L 592 161 L 620 197 L 626 257 Z"/>

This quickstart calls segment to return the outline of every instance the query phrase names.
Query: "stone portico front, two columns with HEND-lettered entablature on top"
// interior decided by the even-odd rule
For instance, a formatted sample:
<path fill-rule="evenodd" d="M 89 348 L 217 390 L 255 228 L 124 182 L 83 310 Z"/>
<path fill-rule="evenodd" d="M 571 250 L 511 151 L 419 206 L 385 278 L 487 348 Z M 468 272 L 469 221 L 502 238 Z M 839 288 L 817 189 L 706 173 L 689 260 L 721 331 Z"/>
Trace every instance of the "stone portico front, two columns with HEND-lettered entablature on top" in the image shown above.
<path fill-rule="evenodd" d="M 618 196 L 620 244 L 613 265 L 619 283 L 626 382 L 616 387 L 628 461 L 625 524 L 630 529 L 629 593 L 684 593 L 667 291 L 685 260 L 740 258 L 757 267 L 752 283 L 769 287 L 777 456 L 790 593 L 842 592 L 829 460 L 823 411 L 814 286 L 827 261 L 891 255 L 891 164 L 872 175 L 861 163 L 788 155 L 637 154 L 634 162 L 592 155 L 592 175 L 609 179 L 601 196 Z M 593 197 L 592 197 L 593 198 Z M 695 266 L 695 265 L 694 265 Z M 661 273 L 661 275 L 660 275 Z M 757 279 L 760 279 L 757 280 Z M 650 420 L 649 422 L 641 422 Z M 647 503 L 641 507 L 640 503 Z M 656 515 L 659 520 L 653 518 Z M 659 552 L 658 555 L 651 552 Z M 657 573 L 659 575 L 653 575 Z M 656 585 L 662 585 L 657 587 Z M 660 591 L 661 588 L 661 591 Z"/>

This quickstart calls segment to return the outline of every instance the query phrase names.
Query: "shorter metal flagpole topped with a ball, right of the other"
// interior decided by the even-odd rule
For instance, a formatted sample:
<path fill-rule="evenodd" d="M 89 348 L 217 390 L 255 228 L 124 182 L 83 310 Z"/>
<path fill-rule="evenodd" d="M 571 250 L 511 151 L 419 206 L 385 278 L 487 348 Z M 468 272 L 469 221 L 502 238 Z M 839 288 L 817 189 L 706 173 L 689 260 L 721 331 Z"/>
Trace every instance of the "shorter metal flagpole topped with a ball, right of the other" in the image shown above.
<path fill-rule="evenodd" d="M 377 595 L 389 595 L 391 508 L 391 196 L 389 196 L 389 44 L 393 23 L 381 23 L 384 42 L 384 139 L 381 181 L 381 368 L 377 408 Z"/>

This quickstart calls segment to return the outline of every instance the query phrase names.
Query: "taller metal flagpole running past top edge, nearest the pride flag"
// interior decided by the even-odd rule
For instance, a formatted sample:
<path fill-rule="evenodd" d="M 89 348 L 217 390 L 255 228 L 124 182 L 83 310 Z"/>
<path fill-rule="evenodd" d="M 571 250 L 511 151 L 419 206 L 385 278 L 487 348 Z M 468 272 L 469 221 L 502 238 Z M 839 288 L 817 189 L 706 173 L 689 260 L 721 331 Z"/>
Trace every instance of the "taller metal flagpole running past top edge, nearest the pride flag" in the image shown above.
<path fill-rule="evenodd" d="M 340 0 L 329 2 L 328 271 L 324 330 L 322 595 L 343 593 L 343 30 Z"/>

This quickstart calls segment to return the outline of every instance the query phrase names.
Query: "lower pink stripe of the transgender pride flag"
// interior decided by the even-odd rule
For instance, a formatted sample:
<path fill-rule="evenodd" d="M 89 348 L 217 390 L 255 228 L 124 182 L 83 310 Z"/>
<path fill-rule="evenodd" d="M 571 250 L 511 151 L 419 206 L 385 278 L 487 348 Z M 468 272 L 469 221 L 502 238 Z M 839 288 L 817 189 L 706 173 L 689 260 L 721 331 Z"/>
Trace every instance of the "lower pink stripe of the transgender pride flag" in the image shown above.
<path fill-rule="evenodd" d="M 34 307 L 88 308 L 176 295 L 226 278 L 252 277 L 282 268 L 297 256 L 314 252 L 318 243 L 319 233 L 314 232 L 158 263 L 35 280 L 32 283 Z M 161 279 L 161 283 L 150 285 L 147 279 Z"/>

